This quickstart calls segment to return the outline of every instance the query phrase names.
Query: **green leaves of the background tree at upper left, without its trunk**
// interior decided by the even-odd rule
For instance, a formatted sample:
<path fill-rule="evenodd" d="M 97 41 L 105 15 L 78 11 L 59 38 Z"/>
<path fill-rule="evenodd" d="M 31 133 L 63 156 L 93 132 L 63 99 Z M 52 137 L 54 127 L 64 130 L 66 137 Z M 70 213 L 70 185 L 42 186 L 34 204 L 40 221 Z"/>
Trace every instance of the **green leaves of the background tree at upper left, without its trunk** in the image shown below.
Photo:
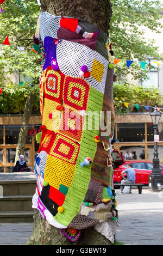
<path fill-rule="evenodd" d="M 8 74 L 20 70 L 24 75 L 39 82 L 41 75 L 41 54 L 30 49 L 20 52 L 16 46 L 33 48 L 37 17 L 40 10 L 37 1 L 6 1 L 4 13 L 0 15 L 0 42 L 9 36 L 10 46 L 0 47 L 0 83 L 6 84 Z"/>

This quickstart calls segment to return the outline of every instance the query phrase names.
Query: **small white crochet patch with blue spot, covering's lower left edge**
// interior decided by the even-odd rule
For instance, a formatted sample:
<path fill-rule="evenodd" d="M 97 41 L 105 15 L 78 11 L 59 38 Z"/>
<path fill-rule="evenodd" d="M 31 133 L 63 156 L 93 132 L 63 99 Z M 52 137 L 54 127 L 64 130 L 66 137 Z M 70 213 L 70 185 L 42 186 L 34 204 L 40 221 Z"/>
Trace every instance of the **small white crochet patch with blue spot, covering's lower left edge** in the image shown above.
<path fill-rule="evenodd" d="M 36 172 L 39 173 L 42 178 L 44 178 L 46 160 L 47 160 L 47 153 L 45 151 L 41 151 L 39 154 L 37 154 L 35 163 L 34 163 Z"/>

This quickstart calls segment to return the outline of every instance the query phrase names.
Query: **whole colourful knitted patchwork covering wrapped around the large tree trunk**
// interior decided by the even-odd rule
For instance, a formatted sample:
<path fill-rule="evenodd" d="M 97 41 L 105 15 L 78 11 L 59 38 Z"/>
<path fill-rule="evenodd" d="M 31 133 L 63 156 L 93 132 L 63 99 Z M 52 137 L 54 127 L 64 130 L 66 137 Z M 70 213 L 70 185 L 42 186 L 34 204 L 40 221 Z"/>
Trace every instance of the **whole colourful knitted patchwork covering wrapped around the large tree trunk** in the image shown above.
<path fill-rule="evenodd" d="M 100 231 L 101 223 L 109 220 L 115 222 L 115 231 L 110 42 L 93 25 L 46 12 L 39 16 L 35 37 L 43 42 L 46 59 L 40 80 L 42 135 L 34 164 L 33 208 L 62 228 L 67 238 L 69 231 L 80 234 L 73 229 L 98 224 Z M 107 191 L 112 191 L 111 197 Z"/>

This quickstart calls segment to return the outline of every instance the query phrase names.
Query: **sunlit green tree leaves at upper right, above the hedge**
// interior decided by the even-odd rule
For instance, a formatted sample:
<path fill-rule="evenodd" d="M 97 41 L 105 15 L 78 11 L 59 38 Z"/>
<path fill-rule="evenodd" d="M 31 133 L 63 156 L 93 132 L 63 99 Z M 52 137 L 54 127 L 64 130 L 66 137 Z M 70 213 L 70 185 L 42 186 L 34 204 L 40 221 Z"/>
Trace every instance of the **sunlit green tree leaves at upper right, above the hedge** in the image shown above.
<path fill-rule="evenodd" d="M 159 11 L 162 10 L 160 1 L 155 0 L 111 0 L 112 17 L 109 34 L 113 43 L 114 56 L 118 59 L 146 61 L 153 57 L 162 60 L 159 47 L 155 40 L 145 38 L 145 29 L 161 33 L 162 25 Z M 149 65 L 146 65 L 148 71 Z M 134 80 L 147 80 L 146 72 L 138 63 L 133 63 L 128 69 L 126 62 L 115 66 L 115 73 L 119 82 L 126 82 L 127 75 L 133 75 Z"/>

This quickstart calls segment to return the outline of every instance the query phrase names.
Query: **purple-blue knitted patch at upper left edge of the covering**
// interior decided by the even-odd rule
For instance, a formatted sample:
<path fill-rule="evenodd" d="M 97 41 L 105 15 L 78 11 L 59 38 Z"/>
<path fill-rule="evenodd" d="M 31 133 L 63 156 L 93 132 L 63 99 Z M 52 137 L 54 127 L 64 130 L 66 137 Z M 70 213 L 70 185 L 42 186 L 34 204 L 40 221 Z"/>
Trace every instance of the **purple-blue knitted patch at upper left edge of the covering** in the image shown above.
<path fill-rule="evenodd" d="M 51 36 L 46 36 L 44 39 L 44 48 L 46 60 L 42 68 L 43 70 L 47 69 L 48 66 L 51 66 L 52 57 L 57 59 L 57 45 L 55 44 L 55 39 L 51 38 Z"/>

